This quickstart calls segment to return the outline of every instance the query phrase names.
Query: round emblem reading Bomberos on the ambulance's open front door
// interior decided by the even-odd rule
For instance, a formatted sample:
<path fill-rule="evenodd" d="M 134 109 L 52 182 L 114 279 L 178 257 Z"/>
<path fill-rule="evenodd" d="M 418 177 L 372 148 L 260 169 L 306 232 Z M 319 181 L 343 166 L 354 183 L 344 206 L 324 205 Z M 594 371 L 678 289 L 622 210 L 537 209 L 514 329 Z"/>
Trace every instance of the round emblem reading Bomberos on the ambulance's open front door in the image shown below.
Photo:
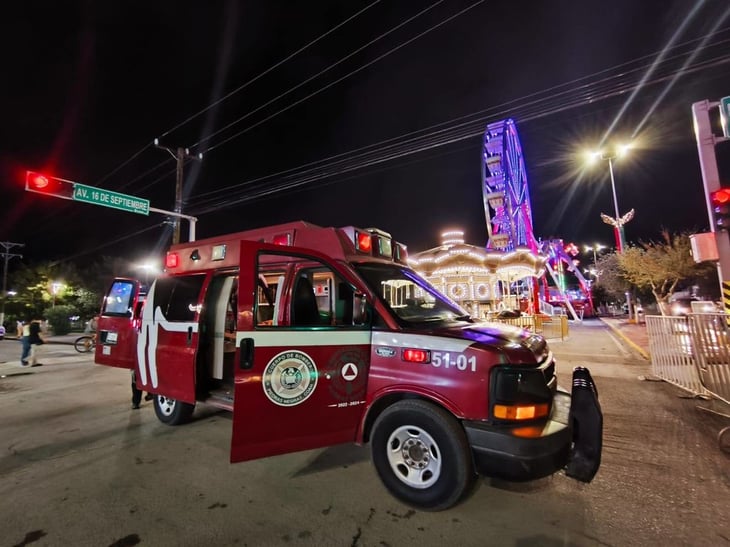
<path fill-rule="evenodd" d="M 301 351 L 282 351 L 266 365 L 264 393 L 272 403 L 293 406 L 306 401 L 317 387 L 317 367 Z"/>

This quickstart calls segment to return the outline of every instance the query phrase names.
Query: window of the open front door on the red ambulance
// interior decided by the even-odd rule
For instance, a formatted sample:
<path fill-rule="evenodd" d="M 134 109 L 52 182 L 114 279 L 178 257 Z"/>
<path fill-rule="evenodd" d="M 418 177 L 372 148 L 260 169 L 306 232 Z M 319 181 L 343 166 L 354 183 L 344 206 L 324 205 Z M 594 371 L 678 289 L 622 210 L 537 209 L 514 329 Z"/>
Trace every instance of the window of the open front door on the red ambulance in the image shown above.
<path fill-rule="evenodd" d="M 306 257 L 259 256 L 257 325 L 262 327 L 352 327 L 353 286 L 318 260 Z M 283 265 L 286 264 L 286 267 Z M 290 291 L 281 309 L 281 291 Z M 286 301 L 286 300 L 284 300 Z"/>

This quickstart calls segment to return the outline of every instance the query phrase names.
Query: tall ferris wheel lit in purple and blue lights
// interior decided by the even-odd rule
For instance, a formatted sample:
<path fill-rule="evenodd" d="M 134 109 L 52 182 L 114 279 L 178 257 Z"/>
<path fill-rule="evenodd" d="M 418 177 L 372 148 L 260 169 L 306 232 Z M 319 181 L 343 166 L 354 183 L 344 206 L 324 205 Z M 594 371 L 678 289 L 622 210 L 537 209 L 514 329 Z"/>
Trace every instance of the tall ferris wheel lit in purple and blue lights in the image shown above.
<path fill-rule="evenodd" d="M 522 146 L 513 119 L 487 125 L 484 132 L 482 194 L 488 249 L 537 252 Z"/>

